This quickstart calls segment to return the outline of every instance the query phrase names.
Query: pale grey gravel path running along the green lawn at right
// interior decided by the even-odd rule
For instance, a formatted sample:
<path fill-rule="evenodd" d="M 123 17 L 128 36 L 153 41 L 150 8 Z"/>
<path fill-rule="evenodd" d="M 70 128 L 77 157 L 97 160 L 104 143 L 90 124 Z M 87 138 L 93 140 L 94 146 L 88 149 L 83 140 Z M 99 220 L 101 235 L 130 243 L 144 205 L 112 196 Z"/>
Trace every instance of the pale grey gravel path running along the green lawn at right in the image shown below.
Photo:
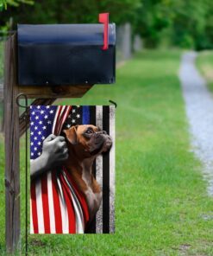
<path fill-rule="evenodd" d="M 190 124 L 192 150 L 204 164 L 208 193 L 213 196 L 213 97 L 195 67 L 196 57 L 194 52 L 183 55 L 179 79 Z"/>

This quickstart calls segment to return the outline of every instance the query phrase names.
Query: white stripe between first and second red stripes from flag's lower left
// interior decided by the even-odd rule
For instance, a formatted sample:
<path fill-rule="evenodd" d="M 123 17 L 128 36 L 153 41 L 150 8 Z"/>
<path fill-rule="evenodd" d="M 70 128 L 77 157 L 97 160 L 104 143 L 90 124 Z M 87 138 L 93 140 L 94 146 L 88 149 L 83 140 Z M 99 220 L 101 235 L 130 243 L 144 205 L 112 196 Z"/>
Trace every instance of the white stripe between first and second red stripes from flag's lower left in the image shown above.
<path fill-rule="evenodd" d="M 35 183 L 35 195 L 36 195 L 36 206 L 37 206 L 37 216 L 38 216 L 38 232 L 39 234 L 44 234 L 44 215 L 43 215 L 43 204 L 41 195 L 41 180 Z"/>

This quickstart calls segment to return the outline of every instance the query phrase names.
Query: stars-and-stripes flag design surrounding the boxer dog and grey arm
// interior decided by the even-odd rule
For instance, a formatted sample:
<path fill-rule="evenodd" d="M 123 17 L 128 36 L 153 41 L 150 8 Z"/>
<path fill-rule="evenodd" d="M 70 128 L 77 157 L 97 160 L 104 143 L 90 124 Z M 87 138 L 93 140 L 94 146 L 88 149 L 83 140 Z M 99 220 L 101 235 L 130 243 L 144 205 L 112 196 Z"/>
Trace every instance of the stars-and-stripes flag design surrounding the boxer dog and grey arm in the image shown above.
<path fill-rule="evenodd" d="M 49 134 L 60 135 L 72 125 L 97 125 L 110 134 L 113 146 L 98 156 L 93 175 L 103 189 L 103 202 L 87 233 L 115 232 L 115 107 L 30 106 L 30 158 L 41 156 Z M 88 209 L 67 171 L 49 170 L 32 180 L 30 196 L 31 234 L 84 233 Z M 72 201 L 72 202 L 71 202 Z"/>

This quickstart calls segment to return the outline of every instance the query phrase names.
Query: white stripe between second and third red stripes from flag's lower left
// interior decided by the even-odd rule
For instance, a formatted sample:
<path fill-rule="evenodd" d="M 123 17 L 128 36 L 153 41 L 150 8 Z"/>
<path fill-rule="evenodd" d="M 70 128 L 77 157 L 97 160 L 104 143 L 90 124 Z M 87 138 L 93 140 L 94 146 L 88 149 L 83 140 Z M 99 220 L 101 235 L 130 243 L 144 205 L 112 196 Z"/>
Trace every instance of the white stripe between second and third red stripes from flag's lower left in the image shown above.
<path fill-rule="evenodd" d="M 50 233 L 55 234 L 55 219 L 54 219 L 54 205 L 53 205 L 53 187 L 52 187 L 52 173 L 47 173 L 47 194 L 49 203 L 49 221 Z"/>

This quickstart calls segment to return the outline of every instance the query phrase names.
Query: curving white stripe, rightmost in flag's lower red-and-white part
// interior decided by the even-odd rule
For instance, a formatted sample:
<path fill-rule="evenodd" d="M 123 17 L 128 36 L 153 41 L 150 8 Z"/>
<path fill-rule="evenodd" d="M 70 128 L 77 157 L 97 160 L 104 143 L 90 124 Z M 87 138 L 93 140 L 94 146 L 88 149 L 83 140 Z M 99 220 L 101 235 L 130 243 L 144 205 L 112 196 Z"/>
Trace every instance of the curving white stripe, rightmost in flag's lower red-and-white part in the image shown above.
<path fill-rule="evenodd" d="M 84 234 L 84 214 L 80 205 L 80 202 L 78 202 L 78 197 L 75 195 L 74 190 L 72 189 L 72 185 L 70 182 L 67 181 L 66 178 L 66 173 L 63 172 L 63 175 L 65 177 L 66 183 L 70 189 L 70 194 L 72 197 L 72 203 L 73 203 L 73 208 L 75 212 L 75 217 L 76 217 L 76 234 Z"/>

